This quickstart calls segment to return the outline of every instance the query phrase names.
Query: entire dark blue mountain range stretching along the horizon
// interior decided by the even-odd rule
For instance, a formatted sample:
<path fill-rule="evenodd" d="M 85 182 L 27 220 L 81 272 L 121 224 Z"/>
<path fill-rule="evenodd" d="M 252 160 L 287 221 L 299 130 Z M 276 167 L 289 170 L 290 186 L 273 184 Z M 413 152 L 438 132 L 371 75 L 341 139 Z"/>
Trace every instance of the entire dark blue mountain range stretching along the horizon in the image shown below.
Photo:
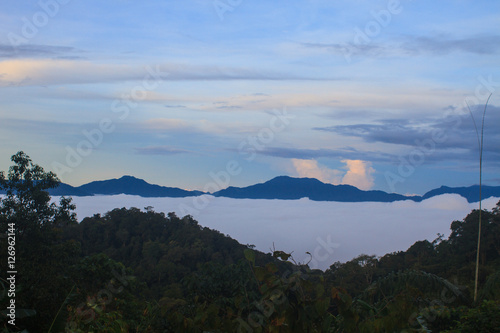
<path fill-rule="evenodd" d="M 0 194 L 4 194 L 0 191 Z M 191 197 L 202 194 L 211 194 L 216 197 L 227 197 L 235 199 L 281 199 L 294 200 L 309 198 L 315 201 L 341 201 L 341 202 L 393 202 L 400 200 L 422 201 L 441 194 L 459 194 L 468 202 L 477 202 L 479 198 L 479 186 L 469 187 L 447 187 L 441 186 L 433 189 L 423 196 L 407 196 L 384 191 L 363 191 L 351 185 L 325 184 L 314 178 L 293 178 L 279 176 L 265 183 L 255 184 L 247 187 L 233 187 L 214 192 L 204 193 L 202 191 L 188 191 L 175 187 L 159 186 L 149 184 L 146 181 L 132 176 L 123 176 L 119 179 L 93 181 L 78 187 L 65 183 L 59 184 L 57 188 L 49 190 L 52 196 L 93 196 L 93 195 L 115 195 L 129 194 L 141 197 Z M 482 198 L 500 197 L 500 186 L 482 187 Z"/>

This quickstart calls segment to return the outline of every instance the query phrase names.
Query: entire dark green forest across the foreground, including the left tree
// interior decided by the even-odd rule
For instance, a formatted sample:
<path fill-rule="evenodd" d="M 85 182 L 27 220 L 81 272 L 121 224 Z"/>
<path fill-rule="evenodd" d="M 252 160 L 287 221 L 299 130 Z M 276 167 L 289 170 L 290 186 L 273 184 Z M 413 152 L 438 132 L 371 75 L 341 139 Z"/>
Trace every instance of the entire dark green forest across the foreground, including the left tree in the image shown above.
<path fill-rule="evenodd" d="M 56 175 L 22 152 L 12 161 L 0 232 L 15 226 L 17 317 L 2 236 L 2 332 L 500 332 L 500 202 L 483 211 L 474 303 L 478 211 L 447 239 L 322 272 L 151 207 L 77 223 L 70 199 L 50 204 Z"/>

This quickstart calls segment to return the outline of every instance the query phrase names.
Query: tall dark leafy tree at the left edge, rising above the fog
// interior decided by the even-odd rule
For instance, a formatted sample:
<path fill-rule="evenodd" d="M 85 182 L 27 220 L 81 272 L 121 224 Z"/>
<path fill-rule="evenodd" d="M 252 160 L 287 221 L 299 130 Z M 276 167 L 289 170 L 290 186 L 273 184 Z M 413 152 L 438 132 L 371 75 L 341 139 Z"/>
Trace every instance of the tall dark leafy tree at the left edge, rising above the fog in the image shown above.
<path fill-rule="evenodd" d="M 16 306 L 36 310 L 35 317 L 19 325 L 30 332 L 47 331 L 72 288 L 65 271 L 81 252 L 80 244 L 63 240 L 61 231 L 63 226 L 76 224 L 75 206 L 69 198 L 62 198 L 60 205 L 50 203 L 46 190 L 59 184 L 54 173 L 33 164 L 22 151 L 11 160 L 14 165 L 8 174 L 0 172 L 0 189 L 6 191 L 0 200 L 0 232 L 14 229 Z M 1 272 L 9 270 L 6 243 L 0 242 Z"/>

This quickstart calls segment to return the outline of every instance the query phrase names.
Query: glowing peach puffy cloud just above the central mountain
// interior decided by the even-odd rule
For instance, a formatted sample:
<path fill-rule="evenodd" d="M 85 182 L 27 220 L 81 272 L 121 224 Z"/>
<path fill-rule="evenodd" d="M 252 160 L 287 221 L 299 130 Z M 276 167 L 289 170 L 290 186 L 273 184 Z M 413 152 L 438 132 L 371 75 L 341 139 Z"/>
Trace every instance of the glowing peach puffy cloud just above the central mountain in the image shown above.
<path fill-rule="evenodd" d="M 295 172 L 299 177 L 316 178 L 327 184 L 348 184 L 361 190 L 369 190 L 374 185 L 375 169 L 370 162 L 362 160 L 342 160 L 347 172 L 319 165 L 316 160 L 292 159 Z"/>

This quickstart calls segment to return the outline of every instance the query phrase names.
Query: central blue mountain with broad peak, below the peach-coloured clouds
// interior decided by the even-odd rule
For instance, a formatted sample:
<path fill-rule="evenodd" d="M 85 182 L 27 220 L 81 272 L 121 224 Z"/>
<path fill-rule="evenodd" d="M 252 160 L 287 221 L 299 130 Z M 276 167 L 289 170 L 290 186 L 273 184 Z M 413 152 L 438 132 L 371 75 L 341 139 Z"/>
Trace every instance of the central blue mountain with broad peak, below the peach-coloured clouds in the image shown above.
<path fill-rule="evenodd" d="M 300 199 L 307 197 L 316 201 L 392 202 L 420 199 L 383 191 L 362 191 L 351 185 L 331 185 L 314 178 L 292 178 L 280 176 L 263 184 L 248 187 L 228 187 L 213 194 L 217 197 L 238 199 Z"/>

